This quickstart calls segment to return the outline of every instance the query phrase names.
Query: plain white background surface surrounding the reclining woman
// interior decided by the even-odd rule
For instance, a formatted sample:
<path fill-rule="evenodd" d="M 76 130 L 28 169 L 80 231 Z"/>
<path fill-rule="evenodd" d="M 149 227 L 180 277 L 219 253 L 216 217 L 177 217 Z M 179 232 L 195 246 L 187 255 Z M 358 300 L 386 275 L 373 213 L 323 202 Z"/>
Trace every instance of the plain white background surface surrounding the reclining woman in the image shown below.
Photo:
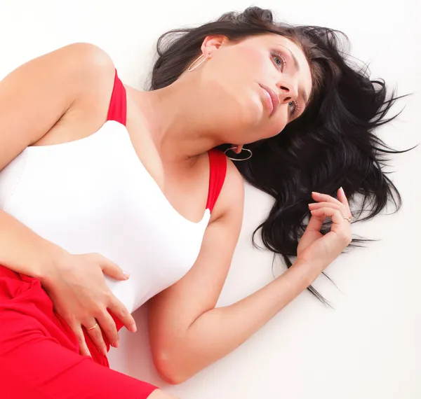
<path fill-rule="evenodd" d="M 370 63 L 401 100 L 398 120 L 380 130 L 388 144 L 421 142 L 419 12 L 415 0 L 258 1 L 278 18 L 345 31 L 352 55 Z M 245 0 L 90 1 L 0 0 L 0 77 L 22 62 L 74 41 L 100 45 L 122 80 L 143 87 L 156 38 L 167 29 L 199 25 Z M 418 17 L 417 17 L 418 15 Z M 22 116 L 25 117 L 25 116 Z M 166 386 L 152 366 L 145 311 L 140 331 L 123 332 L 112 367 L 159 384 L 180 398 L 416 399 L 421 398 L 421 148 L 393 157 L 392 179 L 403 196 L 393 216 L 357 223 L 354 232 L 379 239 L 342 255 L 315 286 L 333 302 L 323 307 L 305 292 L 231 355 L 179 386 Z M 220 298 L 230 304 L 272 280 L 272 255 L 250 245 L 270 200 L 246 188 L 243 230 Z M 281 262 L 274 269 L 283 271 Z"/>

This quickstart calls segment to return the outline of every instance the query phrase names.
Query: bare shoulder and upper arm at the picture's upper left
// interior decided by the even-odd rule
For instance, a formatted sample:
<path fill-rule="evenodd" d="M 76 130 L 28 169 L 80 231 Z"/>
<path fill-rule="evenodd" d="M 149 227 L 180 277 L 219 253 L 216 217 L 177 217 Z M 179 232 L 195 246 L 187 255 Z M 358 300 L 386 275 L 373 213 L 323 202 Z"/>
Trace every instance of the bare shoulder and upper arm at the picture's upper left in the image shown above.
<path fill-rule="evenodd" d="M 46 134 L 73 131 L 80 120 L 87 131 L 103 123 L 114 74 L 111 58 L 90 43 L 66 45 L 8 73 L 0 82 L 0 131 L 10 132 L 1 141 L 0 169 Z M 96 119 L 87 121 L 90 115 Z"/>

